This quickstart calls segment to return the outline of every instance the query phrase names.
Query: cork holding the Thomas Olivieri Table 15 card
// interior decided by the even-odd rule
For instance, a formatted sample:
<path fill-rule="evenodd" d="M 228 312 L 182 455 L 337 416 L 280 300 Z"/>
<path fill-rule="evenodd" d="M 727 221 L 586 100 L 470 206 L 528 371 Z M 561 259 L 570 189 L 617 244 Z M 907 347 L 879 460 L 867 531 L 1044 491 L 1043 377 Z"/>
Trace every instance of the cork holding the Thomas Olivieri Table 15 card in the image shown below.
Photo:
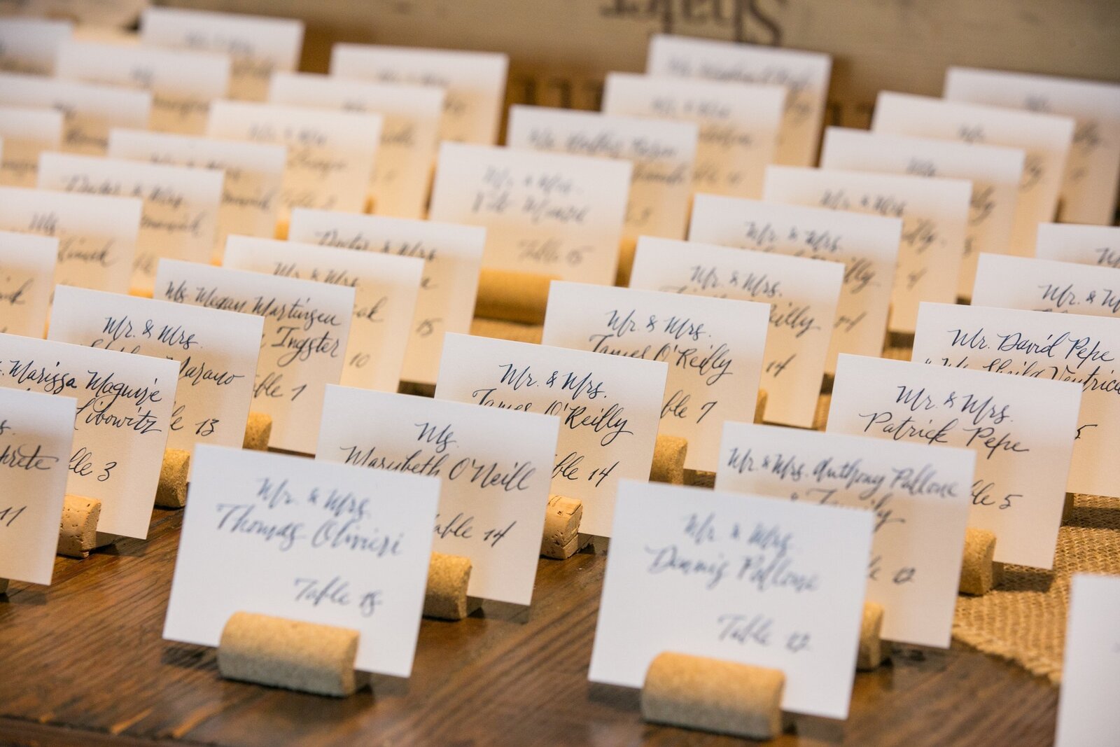
<path fill-rule="evenodd" d="M 234 613 L 222 628 L 217 670 L 227 680 L 345 698 L 368 683 L 354 671 L 357 643 L 348 628 Z"/>

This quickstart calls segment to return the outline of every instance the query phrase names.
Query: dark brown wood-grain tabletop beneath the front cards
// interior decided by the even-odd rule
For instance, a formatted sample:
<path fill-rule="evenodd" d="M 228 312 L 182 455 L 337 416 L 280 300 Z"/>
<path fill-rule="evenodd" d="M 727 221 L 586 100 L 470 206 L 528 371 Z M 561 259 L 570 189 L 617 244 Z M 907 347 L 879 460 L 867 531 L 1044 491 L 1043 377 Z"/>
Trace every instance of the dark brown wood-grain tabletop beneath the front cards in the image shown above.
<path fill-rule="evenodd" d="M 749 744 L 645 725 L 636 691 L 587 681 L 605 543 L 541 559 L 531 608 L 424 619 L 411 679 L 338 700 L 222 680 L 215 650 L 160 637 L 180 524 L 157 510 L 148 541 L 59 558 L 50 587 L 0 596 L 0 744 Z M 799 718 L 774 744 L 1049 745 L 1056 702 L 1045 681 L 968 647 L 896 646 L 857 675 L 847 721 Z"/>

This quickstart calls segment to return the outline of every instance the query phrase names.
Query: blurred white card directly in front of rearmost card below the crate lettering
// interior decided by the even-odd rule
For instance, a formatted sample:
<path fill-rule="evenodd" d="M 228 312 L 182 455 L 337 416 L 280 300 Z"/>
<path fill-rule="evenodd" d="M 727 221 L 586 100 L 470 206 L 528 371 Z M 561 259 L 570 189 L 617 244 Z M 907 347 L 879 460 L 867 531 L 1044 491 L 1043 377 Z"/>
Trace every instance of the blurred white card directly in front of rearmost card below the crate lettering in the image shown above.
<path fill-rule="evenodd" d="M 780 85 L 608 73 L 603 111 L 696 122 L 692 190 L 759 197 L 763 174 L 774 162 L 785 96 Z"/>

